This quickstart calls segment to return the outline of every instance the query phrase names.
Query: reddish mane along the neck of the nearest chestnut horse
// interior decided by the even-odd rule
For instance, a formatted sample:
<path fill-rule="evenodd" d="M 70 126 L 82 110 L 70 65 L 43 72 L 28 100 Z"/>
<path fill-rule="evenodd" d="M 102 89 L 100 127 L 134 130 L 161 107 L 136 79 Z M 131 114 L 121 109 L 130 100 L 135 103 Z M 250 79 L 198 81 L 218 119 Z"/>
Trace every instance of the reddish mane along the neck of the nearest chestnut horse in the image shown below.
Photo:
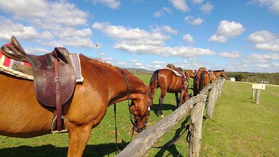
<path fill-rule="evenodd" d="M 123 73 L 122 71 L 125 73 L 127 79 L 129 81 L 132 81 L 132 82 L 138 82 L 142 85 L 145 85 L 144 82 L 142 80 L 140 80 L 138 77 L 136 77 L 135 75 L 131 74 L 128 70 L 126 69 L 122 69 L 121 71 L 121 68 L 117 67 L 117 66 L 113 66 L 109 63 L 105 63 L 105 62 L 102 62 L 101 59 L 94 59 L 93 57 L 86 57 L 85 55 L 83 54 L 79 54 L 80 58 L 83 59 L 85 62 L 92 62 L 92 63 L 95 63 L 95 64 L 99 64 L 99 65 L 102 65 L 102 66 L 105 66 L 105 67 L 108 67 L 108 68 L 111 68 L 113 70 L 117 70 L 118 73 L 123 76 Z"/>

